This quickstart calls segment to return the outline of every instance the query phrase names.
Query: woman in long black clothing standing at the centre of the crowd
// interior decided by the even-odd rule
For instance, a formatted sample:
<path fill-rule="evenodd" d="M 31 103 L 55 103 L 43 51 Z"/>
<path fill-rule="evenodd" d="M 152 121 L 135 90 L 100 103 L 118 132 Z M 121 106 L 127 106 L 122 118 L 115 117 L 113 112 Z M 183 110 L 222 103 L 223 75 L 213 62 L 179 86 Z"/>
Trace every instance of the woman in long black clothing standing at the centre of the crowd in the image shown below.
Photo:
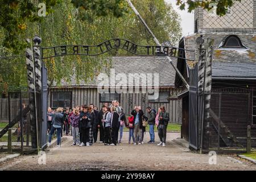
<path fill-rule="evenodd" d="M 111 136 L 112 136 L 112 144 L 110 144 L 110 146 L 113 145 L 117 145 L 117 140 L 118 140 L 118 130 L 119 130 L 119 114 L 116 111 L 116 107 L 111 107 L 110 111 L 112 112 L 112 122 L 111 122 Z"/>

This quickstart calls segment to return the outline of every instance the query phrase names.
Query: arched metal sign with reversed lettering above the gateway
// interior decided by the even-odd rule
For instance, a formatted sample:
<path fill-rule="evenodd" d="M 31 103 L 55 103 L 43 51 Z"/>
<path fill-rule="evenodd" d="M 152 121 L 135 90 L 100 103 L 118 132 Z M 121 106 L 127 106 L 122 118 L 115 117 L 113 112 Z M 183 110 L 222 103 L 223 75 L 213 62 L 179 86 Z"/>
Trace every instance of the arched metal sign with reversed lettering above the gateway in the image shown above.
<path fill-rule="evenodd" d="M 54 47 L 43 47 L 42 59 L 64 55 L 97 56 L 101 55 L 102 53 L 108 52 L 112 49 L 124 49 L 125 51 L 133 53 L 134 55 L 138 56 L 170 56 L 190 61 L 195 60 L 195 56 L 184 58 L 180 56 L 183 54 L 178 54 L 179 51 L 194 52 L 192 50 L 168 46 L 139 46 L 125 39 L 110 39 L 96 46 L 64 45 Z"/>

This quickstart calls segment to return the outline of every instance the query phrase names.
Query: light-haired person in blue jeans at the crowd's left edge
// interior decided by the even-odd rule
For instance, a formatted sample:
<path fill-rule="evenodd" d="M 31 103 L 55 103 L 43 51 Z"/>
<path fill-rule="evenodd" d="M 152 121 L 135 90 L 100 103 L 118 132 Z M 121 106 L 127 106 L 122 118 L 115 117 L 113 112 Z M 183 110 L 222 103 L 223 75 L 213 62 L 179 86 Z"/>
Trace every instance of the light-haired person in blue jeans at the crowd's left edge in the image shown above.
<path fill-rule="evenodd" d="M 51 114 L 53 116 L 53 122 L 52 127 L 49 132 L 49 140 L 48 140 L 48 146 L 51 145 L 52 141 L 52 134 L 55 130 L 57 130 L 57 147 L 60 147 L 61 142 L 61 126 L 64 124 L 64 115 L 61 114 L 63 112 L 63 108 L 58 107 L 56 110 L 56 113 Z"/>

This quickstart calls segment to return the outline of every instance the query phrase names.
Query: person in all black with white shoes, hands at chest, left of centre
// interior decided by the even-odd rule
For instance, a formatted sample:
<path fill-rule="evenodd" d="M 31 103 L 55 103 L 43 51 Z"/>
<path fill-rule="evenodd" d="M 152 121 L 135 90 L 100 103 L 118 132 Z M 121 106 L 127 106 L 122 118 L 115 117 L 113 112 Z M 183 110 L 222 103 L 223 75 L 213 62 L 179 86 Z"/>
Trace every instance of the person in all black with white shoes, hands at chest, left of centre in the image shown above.
<path fill-rule="evenodd" d="M 82 143 L 80 146 L 90 146 L 89 144 L 89 132 L 90 132 L 90 127 L 91 127 L 91 122 L 92 117 L 90 113 L 88 112 L 88 107 L 84 107 L 84 112 L 81 113 L 81 118 L 80 118 L 80 127 L 81 127 L 81 133 L 82 133 Z"/>

